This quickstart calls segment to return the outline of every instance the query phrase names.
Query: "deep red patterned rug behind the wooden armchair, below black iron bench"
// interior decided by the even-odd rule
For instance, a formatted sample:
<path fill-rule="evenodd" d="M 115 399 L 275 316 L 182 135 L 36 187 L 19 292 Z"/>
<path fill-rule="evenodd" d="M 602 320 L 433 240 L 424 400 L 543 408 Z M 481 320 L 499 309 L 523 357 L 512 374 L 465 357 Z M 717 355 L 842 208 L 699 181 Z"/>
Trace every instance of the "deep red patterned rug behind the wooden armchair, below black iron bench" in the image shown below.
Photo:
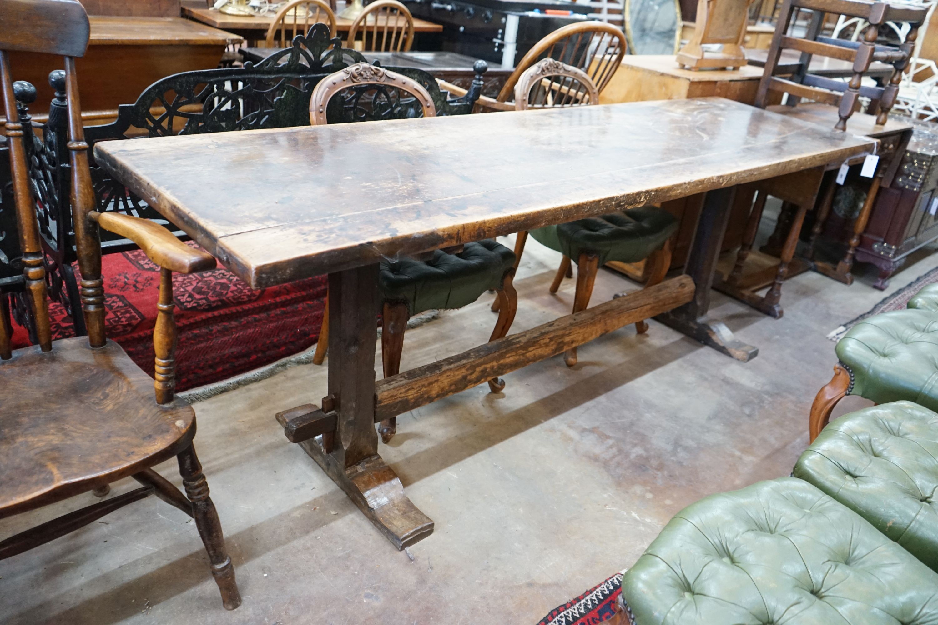
<path fill-rule="evenodd" d="M 159 267 L 134 250 L 105 256 L 101 274 L 108 338 L 152 376 Z M 310 348 L 323 322 L 325 291 L 325 275 L 251 290 L 226 269 L 174 274 L 176 390 L 231 378 Z M 53 338 L 75 335 L 62 305 L 50 302 L 50 316 Z M 26 330 L 14 325 L 14 349 L 27 345 Z"/>

